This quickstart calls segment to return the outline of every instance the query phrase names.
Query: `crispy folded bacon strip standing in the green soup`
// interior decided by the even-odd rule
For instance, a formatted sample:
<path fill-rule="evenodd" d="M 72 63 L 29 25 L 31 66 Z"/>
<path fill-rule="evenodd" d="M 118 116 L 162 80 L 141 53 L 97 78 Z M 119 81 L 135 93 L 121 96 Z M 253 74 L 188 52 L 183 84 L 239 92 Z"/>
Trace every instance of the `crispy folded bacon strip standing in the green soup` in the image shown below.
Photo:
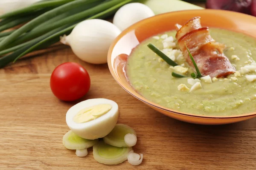
<path fill-rule="evenodd" d="M 175 25 L 176 39 L 183 51 L 186 61 L 194 67 L 186 50 L 185 42 L 204 76 L 226 77 L 236 69 L 224 55 L 224 44 L 216 42 L 209 34 L 209 28 L 201 26 L 200 17 L 194 17 L 183 26 Z"/>

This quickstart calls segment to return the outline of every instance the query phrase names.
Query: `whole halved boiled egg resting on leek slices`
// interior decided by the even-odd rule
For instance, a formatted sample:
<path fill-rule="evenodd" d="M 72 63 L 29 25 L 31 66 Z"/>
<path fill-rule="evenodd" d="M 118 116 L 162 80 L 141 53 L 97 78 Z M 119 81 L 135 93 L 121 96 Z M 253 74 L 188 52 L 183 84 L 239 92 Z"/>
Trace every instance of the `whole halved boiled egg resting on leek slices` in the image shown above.
<path fill-rule="evenodd" d="M 84 139 L 107 136 L 116 125 L 118 105 L 109 99 L 88 99 L 71 107 L 66 122 L 73 133 Z"/>

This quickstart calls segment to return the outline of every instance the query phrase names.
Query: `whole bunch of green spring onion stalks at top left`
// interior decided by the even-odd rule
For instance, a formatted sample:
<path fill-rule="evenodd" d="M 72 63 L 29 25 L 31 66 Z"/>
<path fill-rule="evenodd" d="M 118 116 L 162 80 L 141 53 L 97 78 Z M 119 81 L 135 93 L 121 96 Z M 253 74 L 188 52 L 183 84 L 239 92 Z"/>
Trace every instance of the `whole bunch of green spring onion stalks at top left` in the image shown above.
<path fill-rule="evenodd" d="M 60 41 L 83 20 L 105 19 L 134 0 L 41 0 L 0 16 L 0 68 Z M 14 30 L 8 30 L 16 26 Z"/>

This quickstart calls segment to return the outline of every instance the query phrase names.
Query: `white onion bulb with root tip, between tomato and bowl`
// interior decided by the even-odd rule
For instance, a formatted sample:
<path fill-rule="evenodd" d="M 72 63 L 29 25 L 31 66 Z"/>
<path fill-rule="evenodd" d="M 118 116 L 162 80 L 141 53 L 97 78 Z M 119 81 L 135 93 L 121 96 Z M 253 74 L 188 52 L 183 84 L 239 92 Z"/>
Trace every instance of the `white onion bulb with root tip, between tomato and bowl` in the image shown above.
<path fill-rule="evenodd" d="M 61 37 L 61 42 L 70 45 L 81 60 L 92 64 L 104 64 L 107 63 L 111 43 L 120 33 L 119 28 L 108 21 L 84 20 L 70 35 Z"/>

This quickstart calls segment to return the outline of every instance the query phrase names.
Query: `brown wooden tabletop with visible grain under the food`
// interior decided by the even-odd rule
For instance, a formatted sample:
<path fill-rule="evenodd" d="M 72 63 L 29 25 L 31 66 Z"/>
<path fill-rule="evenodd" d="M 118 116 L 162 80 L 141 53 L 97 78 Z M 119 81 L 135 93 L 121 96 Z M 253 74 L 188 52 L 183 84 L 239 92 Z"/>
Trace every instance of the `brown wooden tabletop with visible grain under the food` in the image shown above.
<path fill-rule="evenodd" d="M 117 102 L 118 122 L 137 131 L 134 150 L 144 156 L 140 166 L 99 164 L 92 149 L 79 158 L 63 146 L 66 112 L 79 102 L 61 102 L 49 88 L 52 71 L 63 62 L 78 62 L 90 74 L 90 92 L 79 101 L 103 97 Z M 256 119 L 219 126 L 171 119 L 125 92 L 106 64 L 82 62 L 64 45 L 0 69 L 0 85 L 0 170 L 256 169 Z"/>

